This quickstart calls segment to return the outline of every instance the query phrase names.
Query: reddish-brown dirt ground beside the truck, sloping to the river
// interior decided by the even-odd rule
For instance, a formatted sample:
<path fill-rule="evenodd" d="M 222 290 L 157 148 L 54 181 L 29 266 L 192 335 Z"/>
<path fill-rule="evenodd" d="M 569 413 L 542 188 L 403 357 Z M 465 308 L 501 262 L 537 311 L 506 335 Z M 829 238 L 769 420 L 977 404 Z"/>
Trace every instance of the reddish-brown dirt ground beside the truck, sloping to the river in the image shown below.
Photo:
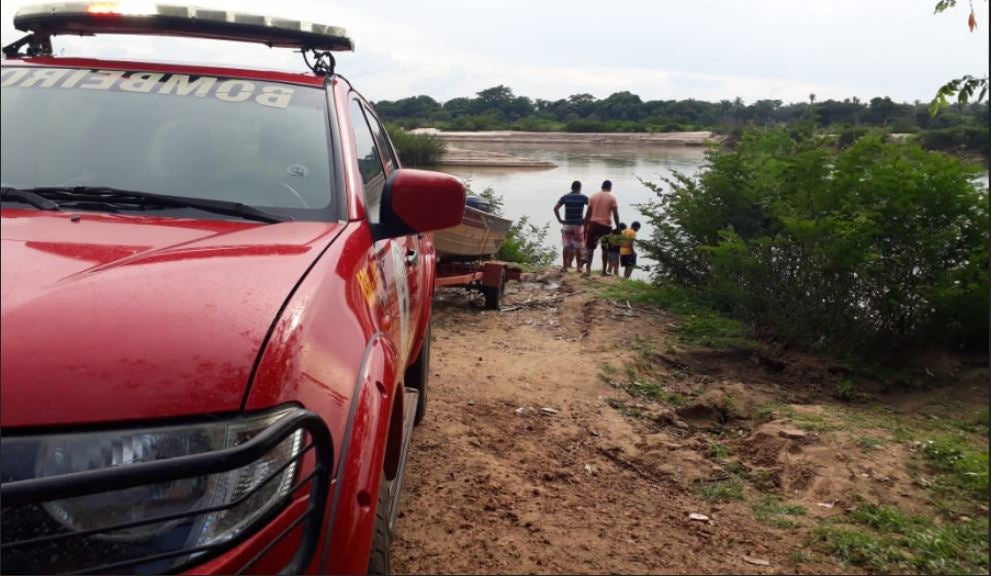
<path fill-rule="evenodd" d="M 394 571 L 863 572 L 807 553 L 810 531 L 856 502 L 932 512 L 905 465 L 917 445 L 837 411 L 842 367 L 686 346 L 676 316 L 598 296 L 611 281 L 572 272 L 513 283 L 502 311 L 439 293 Z M 986 404 L 986 364 L 971 368 L 959 376 L 974 385 L 955 386 L 958 397 L 892 402 L 913 414 Z M 634 394 L 648 378 L 663 392 Z M 875 436 L 886 441 L 865 449 Z M 801 515 L 758 519 L 767 498 Z"/>

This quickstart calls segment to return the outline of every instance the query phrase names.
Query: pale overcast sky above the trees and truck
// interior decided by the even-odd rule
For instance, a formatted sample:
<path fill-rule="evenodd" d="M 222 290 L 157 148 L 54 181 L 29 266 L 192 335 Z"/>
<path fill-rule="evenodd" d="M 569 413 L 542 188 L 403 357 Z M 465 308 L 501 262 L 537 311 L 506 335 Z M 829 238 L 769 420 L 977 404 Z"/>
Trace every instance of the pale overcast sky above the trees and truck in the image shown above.
<path fill-rule="evenodd" d="M 4 0 L 2 40 L 19 6 Z M 180 2 L 166 2 L 179 4 Z M 785 102 L 857 96 L 928 101 L 950 78 L 988 70 L 988 2 L 933 15 L 935 0 L 331 0 L 197 6 L 348 29 L 338 71 L 372 100 L 444 101 L 505 84 L 557 99 L 629 90 L 645 100 Z M 228 42 L 57 37 L 56 53 L 304 69 L 298 54 Z"/>

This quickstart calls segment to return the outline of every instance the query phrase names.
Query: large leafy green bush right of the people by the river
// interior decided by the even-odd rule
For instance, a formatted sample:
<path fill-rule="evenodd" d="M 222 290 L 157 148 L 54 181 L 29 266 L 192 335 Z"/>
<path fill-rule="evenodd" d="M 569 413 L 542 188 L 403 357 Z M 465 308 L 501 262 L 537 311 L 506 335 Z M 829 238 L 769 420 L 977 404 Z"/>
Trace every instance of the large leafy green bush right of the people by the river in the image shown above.
<path fill-rule="evenodd" d="M 988 342 L 987 189 L 976 168 L 868 134 L 744 132 L 641 206 L 657 280 L 790 343 L 859 352 Z"/>

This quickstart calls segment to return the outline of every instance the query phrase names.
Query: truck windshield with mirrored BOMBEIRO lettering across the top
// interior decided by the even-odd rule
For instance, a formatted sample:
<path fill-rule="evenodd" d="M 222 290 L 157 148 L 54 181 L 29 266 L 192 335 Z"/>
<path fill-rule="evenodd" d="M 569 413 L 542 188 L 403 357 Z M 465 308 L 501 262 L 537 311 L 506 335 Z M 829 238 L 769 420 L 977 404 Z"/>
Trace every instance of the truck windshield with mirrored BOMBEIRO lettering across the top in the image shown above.
<path fill-rule="evenodd" d="M 336 216 L 319 88 L 158 72 L 4 67 L 4 187 L 111 187 Z M 74 210 L 128 210 L 89 198 Z M 142 209 L 135 206 L 133 209 Z M 163 206 L 163 215 L 223 218 Z"/>

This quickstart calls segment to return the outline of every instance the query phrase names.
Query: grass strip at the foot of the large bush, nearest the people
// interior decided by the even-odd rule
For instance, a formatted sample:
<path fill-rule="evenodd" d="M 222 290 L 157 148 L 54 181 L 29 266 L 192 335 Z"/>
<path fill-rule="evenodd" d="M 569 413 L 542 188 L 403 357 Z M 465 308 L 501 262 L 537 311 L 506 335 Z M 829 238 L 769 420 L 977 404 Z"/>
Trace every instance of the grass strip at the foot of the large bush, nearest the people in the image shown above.
<path fill-rule="evenodd" d="M 710 348 L 754 350 L 759 345 L 739 320 L 715 311 L 700 296 L 683 288 L 621 280 L 602 287 L 602 296 L 670 310 L 681 316 L 678 339 Z"/>

